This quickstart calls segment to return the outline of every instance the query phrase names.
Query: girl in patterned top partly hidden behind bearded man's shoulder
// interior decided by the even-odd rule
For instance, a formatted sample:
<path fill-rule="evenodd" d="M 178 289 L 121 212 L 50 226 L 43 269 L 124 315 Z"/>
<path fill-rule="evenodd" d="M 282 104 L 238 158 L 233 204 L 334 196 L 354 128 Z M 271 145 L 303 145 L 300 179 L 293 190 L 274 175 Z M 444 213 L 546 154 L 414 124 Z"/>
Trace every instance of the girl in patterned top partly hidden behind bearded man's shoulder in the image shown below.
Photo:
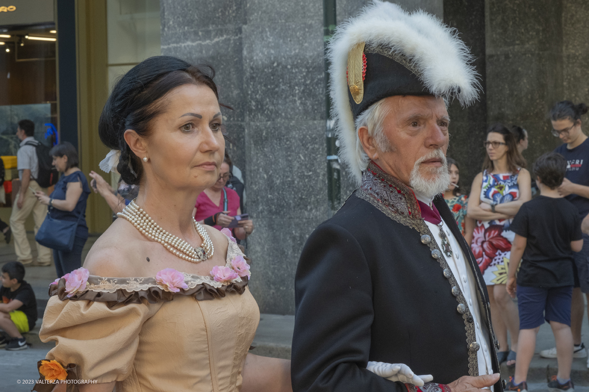
<path fill-rule="evenodd" d="M 466 242 L 471 244 L 475 221 L 466 216 L 468 195 L 462 195 L 459 190 L 460 169 L 458 162 L 450 157 L 446 157 L 446 160 L 448 161 L 448 172 L 450 173 L 450 185 L 446 189 L 446 192 L 444 192 L 444 200 L 446 200 L 446 204 L 450 207 L 452 215 L 454 215 L 454 219 L 456 220 L 456 225 L 460 227 Z"/>

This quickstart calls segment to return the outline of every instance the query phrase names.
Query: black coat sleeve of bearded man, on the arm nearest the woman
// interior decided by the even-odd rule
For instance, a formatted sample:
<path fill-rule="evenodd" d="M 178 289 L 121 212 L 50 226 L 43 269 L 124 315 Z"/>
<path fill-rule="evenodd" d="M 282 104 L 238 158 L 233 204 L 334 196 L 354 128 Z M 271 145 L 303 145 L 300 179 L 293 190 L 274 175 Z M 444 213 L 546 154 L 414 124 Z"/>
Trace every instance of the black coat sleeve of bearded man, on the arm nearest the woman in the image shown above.
<path fill-rule="evenodd" d="M 294 291 L 294 392 L 407 391 L 366 370 L 372 283 L 362 248 L 348 230 L 324 224 L 310 235 Z"/>

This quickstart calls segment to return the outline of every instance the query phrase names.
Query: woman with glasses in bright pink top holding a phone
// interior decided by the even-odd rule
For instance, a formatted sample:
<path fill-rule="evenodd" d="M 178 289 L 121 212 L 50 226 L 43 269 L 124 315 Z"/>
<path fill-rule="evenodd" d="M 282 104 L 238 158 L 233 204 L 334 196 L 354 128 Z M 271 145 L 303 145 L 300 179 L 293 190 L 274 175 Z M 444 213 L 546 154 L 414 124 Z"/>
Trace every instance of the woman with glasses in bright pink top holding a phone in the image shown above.
<path fill-rule="evenodd" d="M 234 216 L 241 215 L 239 195 L 226 186 L 227 181 L 231 178 L 230 162 L 229 156 L 225 155 L 219 179 L 213 186 L 198 195 L 196 206 L 194 206 L 194 219 L 205 225 L 213 226 L 217 230 L 229 227 Z M 251 219 L 240 220 L 237 225 L 231 229 L 231 232 L 239 240 L 246 239 L 254 230 L 254 223 Z"/>

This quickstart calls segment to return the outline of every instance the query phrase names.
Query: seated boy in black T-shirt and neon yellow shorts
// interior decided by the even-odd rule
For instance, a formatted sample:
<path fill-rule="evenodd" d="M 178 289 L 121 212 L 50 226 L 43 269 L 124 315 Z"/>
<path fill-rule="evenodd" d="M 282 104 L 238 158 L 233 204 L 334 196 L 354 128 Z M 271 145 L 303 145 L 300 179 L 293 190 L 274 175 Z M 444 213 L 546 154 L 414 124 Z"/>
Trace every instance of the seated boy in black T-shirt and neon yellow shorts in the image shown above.
<path fill-rule="evenodd" d="M 37 321 L 37 299 L 30 284 L 23 280 L 25 267 L 19 262 L 2 266 L 2 287 L 0 288 L 0 329 L 12 339 L 0 336 L 0 347 L 6 350 L 28 349 L 22 333 L 35 327 Z"/>

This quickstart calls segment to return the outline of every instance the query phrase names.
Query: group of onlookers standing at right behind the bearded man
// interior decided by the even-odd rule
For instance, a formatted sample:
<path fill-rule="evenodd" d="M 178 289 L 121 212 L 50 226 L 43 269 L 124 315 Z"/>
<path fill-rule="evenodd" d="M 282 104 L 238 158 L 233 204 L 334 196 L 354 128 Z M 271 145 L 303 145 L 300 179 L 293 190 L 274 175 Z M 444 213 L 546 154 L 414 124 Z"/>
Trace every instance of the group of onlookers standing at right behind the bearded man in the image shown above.
<path fill-rule="evenodd" d="M 538 158 L 531 173 L 521 155 L 528 132 L 492 125 L 484 141 L 482 171 L 468 195 L 459 186 L 458 162 L 448 159 L 451 183 L 444 199 L 487 284 L 499 362 L 515 366 L 507 390 L 527 389 L 535 337 L 544 320 L 552 327 L 556 347 L 541 356 L 558 359 L 558 374 L 549 387 L 570 390 L 573 357 L 587 356 L 581 341 L 582 293 L 589 293 L 589 141 L 581 129 L 585 113 L 584 103 L 554 105 L 552 135 L 562 145 Z M 516 295 L 517 306 L 512 301 Z"/>

